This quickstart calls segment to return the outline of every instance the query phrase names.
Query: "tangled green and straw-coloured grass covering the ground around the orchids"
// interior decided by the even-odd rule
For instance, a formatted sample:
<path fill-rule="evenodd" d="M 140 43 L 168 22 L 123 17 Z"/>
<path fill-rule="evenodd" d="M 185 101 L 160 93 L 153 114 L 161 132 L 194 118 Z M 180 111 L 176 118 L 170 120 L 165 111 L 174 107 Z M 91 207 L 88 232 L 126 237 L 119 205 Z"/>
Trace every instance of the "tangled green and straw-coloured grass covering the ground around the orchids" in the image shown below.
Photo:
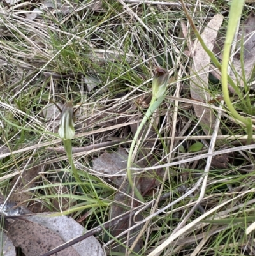
<path fill-rule="evenodd" d="M 198 31 L 203 30 L 210 15 L 228 10 L 227 3 L 214 2 L 187 6 Z M 130 9 L 126 9 L 121 1 L 103 1 L 103 9 L 93 11 L 81 3 L 74 5 L 65 1 L 71 11 L 67 15 L 56 8 L 45 10 L 43 15 L 28 21 L 25 10 L 40 6 L 22 3 L 18 8 L 8 8 L 1 3 L 6 11 L 0 13 L 1 144 L 12 152 L 0 163 L 1 192 L 5 195 L 13 193 L 13 174 L 22 179 L 27 169 L 41 166 L 43 171 L 37 174 L 33 188 L 24 187 L 33 192 L 29 200 L 31 204 L 40 202 L 51 211 L 71 214 L 76 220 L 85 218 L 82 224 L 87 229 L 105 223 L 110 218 L 110 206 L 117 188 L 94 172 L 92 166 L 93 158 L 105 149 L 73 153 L 72 160 L 80 179 L 75 181 L 70 177 L 73 172 L 66 154 L 47 150 L 62 144 L 54 120 L 45 119 L 43 109 L 50 99 L 63 103 L 71 99 L 77 104 L 84 102 L 77 111 L 77 135 L 72 141 L 73 147 L 100 144 L 109 137 L 118 137 L 126 139 L 126 143 L 116 142 L 107 150 L 115 150 L 121 145 L 129 151 L 134 134 L 126 123 L 139 121 L 146 112 L 146 107 L 137 102 L 151 95 L 155 67 L 173 68 L 175 81 L 166 89 L 166 98 L 154 114 L 156 124 L 153 120 L 147 122 L 142 135 L 143 140 L 149 139 L 145 133 L 153 126 L 156 139 L 152 140 L 155 143 L 149 149 L 146 144 L 140 144 L 136 154 L 137 164 L 143 160 L 141 158 L 147 162 L 142 174 L 147 172 L 155 179 L 154 186 L 143 195 L 144 204 L 153 199 L 157 203 L 151 212 L 142 212 L 143 219 L 147 220 L 145 231 L 140 234 L 143 246 L 140 252 L 133 253 L 151 253 L 163 245 L 165 239 L 175 236 L 175 232 L 178 234 L 179 224 L 199 202 L 199 181 L 207 163 L 207 157 L 201 160 L 200 155 L 208 152 L 212 139 L 203 137 L 203 129 L 193 110 L 195 102 L 189 98 L 192 59 L 186 50 L 193 32 L 188 26 L 187 34 L 191 36 L 184 38 L 180 26 L 181 20 L 186 23 L 186 14 L 180 5 L 166 3 L 127 1 Z M 252 7 L 245 8 L 248 13 Z M 219 68 L 219 59 L 214 56 L 212 59 Z M 99 82 L 89 91 L 84 77 L 91 76 Z M 238 85 L 230 78 L 228 82 L 237 89 Z M 249 89 L 245 88 L 245 92 L 249 93 L 249 104 L 252 105 L 254 93 Z M 217 98 L 217 94 L 222 94 L 221 86 L 212 84 L 208 93 Z M 241 98 L 243 109 L 247 110 L 242 90 L 238 89 L 237 96 L 239 99 L 235 102 L 233 97 L 233 104 L 240 104 Z M 219 105 L 207 104 L 215 110 L 215 116 Z M 208 222 L 201 219 L 193 229 L 175 237 L 170 246 L 163 247 L 163 255 L 254 254 L 252 240 L 245 236 L 245 226 L 252 222 L 254 204 L 252 145 L 243 146 L 246 139 L 240 137 L 246 134 L 245 127 L 237 123 L 235 116 L 229 115 L 224 104 L 221 107 L 224 112 L 219 130 L 223 139 L 217 140 L 214 151 L 226 152 L 233 148 L 233 152 L 228 155 L 224 168 L 210 167 L 204 198 L 182 227 L 189 227 L 190 223 L 198 222 L 207 214 Z M 245 118 L 249 114 L 249 118 L 254 119 L 252 111 L 241 114 Z M 120 117 L 122 123 L 118 123 Z M 110 127 L 116 124 L 119 124 L 118 128 Z M 195 142 L 201 142 L 203 148 L 199 152 L 189 152 Z M 250 151 L 247 153 L 247 150 Z M 187 160 L 189 158 L 192 160 Z M 150 172 L 150 165 L 163 167 L 155 167 L 154 172 Z M 64 192 L 62 186 L 66 188 Z M 162 199 L 162 195 L 169 197 Z M 55 199 L 59 202 L 58 207 L 53 203 Z M 160 215 L 159 211 L 162 211 Z M 219 222 L 221 218 L 227 222 Z M 233 225 L 240 218 L 242 222 Z M 103 230 L 98 237 L 102 244 L 108 243 L 108 230 Z M 117 240 L 123 244 L 121 237 Z"/>

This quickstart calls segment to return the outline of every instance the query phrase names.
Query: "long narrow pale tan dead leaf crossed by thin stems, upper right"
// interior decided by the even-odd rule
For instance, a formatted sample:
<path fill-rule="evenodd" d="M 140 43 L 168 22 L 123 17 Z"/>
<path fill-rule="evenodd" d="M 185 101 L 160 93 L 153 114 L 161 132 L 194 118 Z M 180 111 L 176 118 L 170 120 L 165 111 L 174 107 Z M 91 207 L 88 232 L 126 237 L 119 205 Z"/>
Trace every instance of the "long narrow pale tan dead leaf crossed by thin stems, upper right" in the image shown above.
<path fill-rule="evenodd" d="M 214 48 L 215 39 L 221 27 L 222 20 L 222 15 L 215 15 L 201 34 L 205 45 L 207 45 L 210 50 Z M 208 102 L 210 100 L 210 94 L 207 93 L 210 57 L 205 50 L 203 50 L 199 42 L 196 44 L 196 48 L 193 49 L 193 51 L 194 56 L 191 67 L 191 77 L 194 77 L 191 80 L 191 97 L 200 102 Z M 194 105 L 194 110 L 198 118 L 203 116 L 201 117 L 200 124 L 203 126 L 204 132 L 210 135 L 215 122 L 214 113 L 210 109 L 200 105 Z"/>

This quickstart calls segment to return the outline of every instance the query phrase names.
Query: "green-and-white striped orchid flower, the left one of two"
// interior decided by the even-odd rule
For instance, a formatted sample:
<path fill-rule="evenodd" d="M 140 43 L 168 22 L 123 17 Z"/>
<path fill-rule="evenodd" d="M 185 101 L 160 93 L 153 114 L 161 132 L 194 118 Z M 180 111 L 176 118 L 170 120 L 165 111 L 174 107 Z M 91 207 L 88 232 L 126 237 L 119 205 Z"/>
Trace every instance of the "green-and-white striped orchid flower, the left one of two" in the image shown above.
<path fill-rule="evenodd" d="M 64 105 L 59 122 L 59 137 L 62 140 L 71 140 L 75 136 L 75 113 L 71 102 Z"/>

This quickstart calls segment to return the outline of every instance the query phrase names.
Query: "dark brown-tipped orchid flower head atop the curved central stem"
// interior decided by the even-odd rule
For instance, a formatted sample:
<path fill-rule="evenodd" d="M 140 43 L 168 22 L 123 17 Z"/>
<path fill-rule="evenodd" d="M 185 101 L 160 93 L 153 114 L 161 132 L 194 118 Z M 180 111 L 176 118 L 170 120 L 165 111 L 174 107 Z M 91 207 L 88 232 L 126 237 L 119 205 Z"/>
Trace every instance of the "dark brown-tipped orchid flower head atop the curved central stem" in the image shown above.
<path fill-rule="evenodd" d="M 152 96 L 159 98 L 166 92 L 166 86 L 169 80 L 169 72 L 164 68 L 156 68 L 156 74 L 152 80 Z"/>

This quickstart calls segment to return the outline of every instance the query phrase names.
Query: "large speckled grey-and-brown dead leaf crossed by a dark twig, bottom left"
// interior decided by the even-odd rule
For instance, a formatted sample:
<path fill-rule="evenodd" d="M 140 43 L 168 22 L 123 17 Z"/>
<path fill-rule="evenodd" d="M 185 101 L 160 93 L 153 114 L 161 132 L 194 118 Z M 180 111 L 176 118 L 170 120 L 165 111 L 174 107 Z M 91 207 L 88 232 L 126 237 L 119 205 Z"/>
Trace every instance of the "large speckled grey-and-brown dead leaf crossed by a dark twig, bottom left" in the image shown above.
<path fill-rule="evenodd" d="M 52 213 L 22 216 L 27 221 L 15 220 L 9 225 L 8 237 L 15 246 L 22 248 L 26 256 L 46 253 L 75 237 L 82 236 L 86 231 L 82 225 L 68 216 L 50 215 Z M 91 236 L 58 252 L 57 255 L 103 256 L 105 254 L 98 240 Z"/>

